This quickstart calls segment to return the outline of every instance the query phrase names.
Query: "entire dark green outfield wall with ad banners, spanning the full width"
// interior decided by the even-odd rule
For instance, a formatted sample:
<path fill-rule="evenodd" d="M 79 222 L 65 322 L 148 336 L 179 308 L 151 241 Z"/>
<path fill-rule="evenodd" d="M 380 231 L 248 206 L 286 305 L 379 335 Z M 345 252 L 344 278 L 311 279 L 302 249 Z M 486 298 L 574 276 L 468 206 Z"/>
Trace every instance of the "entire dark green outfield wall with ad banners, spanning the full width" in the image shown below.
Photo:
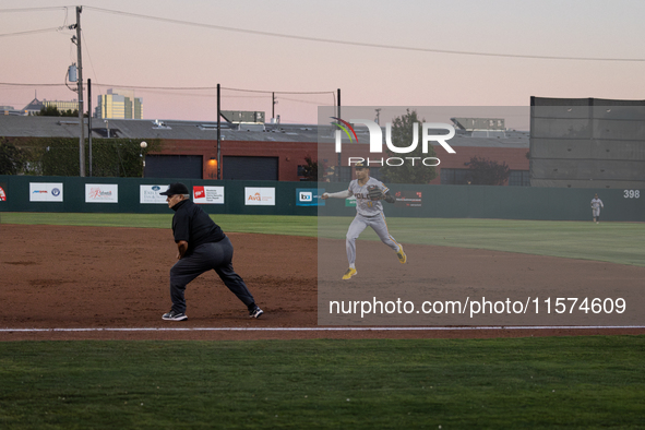
<path fill-rule="evenodd" d="M 351 200 L 318 199 L 324 191 L 346 189 L 345 183 L 28 176 L 0 176 L 0 211 L 168 213 L 165 198 L 153 194 L 177 181 L 186 183 L 193 191 L 193 200 L 212 214 L 356 213 Z M 384 206 L 386 216 L 590 220 L 590 201 L 597 192 L 605 204 L 602 220 L 645 222 L 644 191 L 392 184 L 397 202 Z"/>

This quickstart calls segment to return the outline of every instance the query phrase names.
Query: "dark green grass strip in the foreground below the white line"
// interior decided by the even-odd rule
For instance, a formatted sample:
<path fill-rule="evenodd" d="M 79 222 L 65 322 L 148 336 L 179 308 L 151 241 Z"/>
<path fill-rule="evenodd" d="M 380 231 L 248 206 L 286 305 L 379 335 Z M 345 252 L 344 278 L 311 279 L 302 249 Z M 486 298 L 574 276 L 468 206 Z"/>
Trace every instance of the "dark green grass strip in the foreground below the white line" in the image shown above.
<path fill-rule="evenodd" d="M 645 416 L 644 336 L 1 348 L 2 429 L 593 429 Z"/>

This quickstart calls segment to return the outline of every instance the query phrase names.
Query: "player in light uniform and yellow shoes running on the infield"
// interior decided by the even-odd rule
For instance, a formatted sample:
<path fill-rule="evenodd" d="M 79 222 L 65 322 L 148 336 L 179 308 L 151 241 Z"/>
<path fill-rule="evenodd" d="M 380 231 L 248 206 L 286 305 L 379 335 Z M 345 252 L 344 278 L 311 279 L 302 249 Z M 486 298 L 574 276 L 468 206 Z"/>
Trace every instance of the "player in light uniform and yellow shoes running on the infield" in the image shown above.
<path fill-rule="evenodd" d="M 349 268 L 343 275 L 343 279 L 349 279 L 356 275 L 356 239 L 360 234 L 369 226 L 379 235 L 383 243 L 392 248 L 398 256 L 398 261 L 405 264 L 407 256 L 403 252 L 403 247 L 390 236 L 387 231 L 387 224 L 385 224 L 385 215 L 383 215 L 383 204 L 381 200 L 387 203 L 394 203 L 394 196 L 390 195 L 390 189 L 383 184 L 383 182 L 370 178 L 370 167 L 365 166 L 361 163 L 356 165 L 356 178 L 349 182 L 349 187 L 345 191 L 323 193 L 321 199 L 326 200 L 329 198 L 335 199 L 347 199 L 351 195 L 356 196 L 356 217 L 349 225 L 347 230 L 347 239 L 345 247 L 347 249 L 347 260 L 349 261 Z M 380 190 L 379 200 L 372 200 L 369 194 L 369 188 L 377 187 Z M 372 193 L 379 194 L 378 191 Z"/>

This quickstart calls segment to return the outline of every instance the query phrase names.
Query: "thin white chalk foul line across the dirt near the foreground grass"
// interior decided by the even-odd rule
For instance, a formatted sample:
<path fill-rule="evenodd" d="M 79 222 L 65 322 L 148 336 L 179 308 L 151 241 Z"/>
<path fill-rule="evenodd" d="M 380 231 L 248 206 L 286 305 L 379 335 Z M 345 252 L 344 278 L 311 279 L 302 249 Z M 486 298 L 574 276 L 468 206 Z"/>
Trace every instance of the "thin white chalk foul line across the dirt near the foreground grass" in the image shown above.
<path fill-rule="evenodd" d="M 418 332 L 479 330 L 625 330 L 645 325 L 482 325 L 459 327 L 81 327 L 81 329 L 0 329 L 15 332 Z"/>

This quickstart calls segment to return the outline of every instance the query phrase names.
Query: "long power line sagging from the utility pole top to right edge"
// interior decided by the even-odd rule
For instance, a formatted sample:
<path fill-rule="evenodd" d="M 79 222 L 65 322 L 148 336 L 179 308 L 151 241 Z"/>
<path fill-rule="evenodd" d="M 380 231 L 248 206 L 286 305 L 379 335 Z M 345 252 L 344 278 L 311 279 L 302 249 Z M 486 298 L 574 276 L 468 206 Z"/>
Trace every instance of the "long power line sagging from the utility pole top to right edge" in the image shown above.
<path fill-rule="evenodd" d="M 193 26 L 193 27 L 220 29 L 220 31 L 225 31 L 225 32 L 235 32 L 235 33 L 246 33 L 246 34 L 253 34 L 253 35 L 258 35 L 258 36 L 280 37 L 280 38 L 295 39 L 295 40 L 319 41 L 319 43 L 324 43 L 324 44 L 336 44 L 336 45 L 346 45 L 346 46 L 359 46 L 359 47 L 363 47 L 363 48 L 382 48 L 382 49 L 407 50 L 407 51 L 417 51 L 417 52 L 450 53 L 450 55 L 459 55 L 459 56 L 524 58 L 524 59 L 533 59 L 533 60 L 645 62 L 645 59 L 643 59 L 643 58 L 594 58 L 594 57 L 533 56 L 533 55 L 522 55 L 522 53 L 477 52 L 477 51 L 461 51 L 461 50 L 450 50 L 450 49 L 417 48 L 417 47 L 399 46 L 399 45 L 368 44 L 368 43 L 361 43 L 361 41 L 347 41 L 347 40 L 327 39 L 327 38 L 321 38 L 321 37 L 297 36 L 297 35 L 288 35 L 288 34 L 282 34 L 282 33 L 273 33 L 273 32 L 260 32 L 260 31 L 254 31 L 254 29 L 227 27 L 227 26 L 223 26 L 223 25 L 202 24 L 202 23 L 195 23 L 195 22 L 190 22 L 190 21 L 143 15 L 143 14 L 139 14 L 139 13 L 114 11 L 110 9 L 103 9 L 103 8 L 95 8 L 95 7 L 85 7 L 85 9 L 94 10 L 97 12 L 104 12 L 104 13 L 112 13 L 112 14 L 123 15 L 123 16 L 139 17 L 139 19 L 143 19 L 143 20 L 159 21 L 159 22 L 180 24 L 180 25 L 189 25 L 189 26 Z"/>

